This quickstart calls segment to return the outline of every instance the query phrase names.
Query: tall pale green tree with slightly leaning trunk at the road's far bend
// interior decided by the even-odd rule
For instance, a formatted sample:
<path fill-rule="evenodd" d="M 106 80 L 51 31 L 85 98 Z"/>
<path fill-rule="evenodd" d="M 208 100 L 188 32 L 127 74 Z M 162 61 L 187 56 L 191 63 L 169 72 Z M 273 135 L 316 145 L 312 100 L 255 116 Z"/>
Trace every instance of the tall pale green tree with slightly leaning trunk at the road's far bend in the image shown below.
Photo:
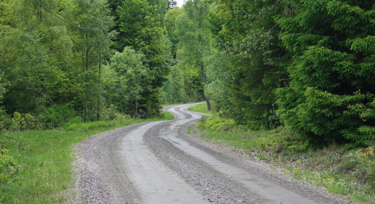
<path fill-rule="evenodd" d="M 209 30 L 205 20 L 208 11 L 208 3 L 200 0 L 186 1 L 181 9 L 181 14 L 177 17 L 175 33 L 179 41 L 176 54 L 179 61 L 177 66 L 184 74 L 186 88 L 190 89 L 187 90 L 187 94 L 193 93 L 191 87 L 187 86 L 189 81 L 193 82 L 196 76 L 200 76 L 198 88 L 210 110 L 210 101 L 204 90 L 206 73 L 203 62 L 203 51 L 209 49 Z"/>

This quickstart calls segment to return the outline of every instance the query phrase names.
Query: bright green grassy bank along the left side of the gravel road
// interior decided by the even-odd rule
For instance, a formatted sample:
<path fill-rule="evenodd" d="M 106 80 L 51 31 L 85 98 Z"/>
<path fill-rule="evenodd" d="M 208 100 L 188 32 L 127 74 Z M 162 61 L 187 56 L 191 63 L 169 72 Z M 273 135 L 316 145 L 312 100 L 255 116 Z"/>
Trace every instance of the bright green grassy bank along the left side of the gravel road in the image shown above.
<path fill-rule="evenodd" d="M 72 145 L 94 134 L 135 123 L 173 119 L 119 119 L 71 123 L 64 128 L 7 132 L 0 137 L 0 203 L 65 203 L 72 185 Z"/>

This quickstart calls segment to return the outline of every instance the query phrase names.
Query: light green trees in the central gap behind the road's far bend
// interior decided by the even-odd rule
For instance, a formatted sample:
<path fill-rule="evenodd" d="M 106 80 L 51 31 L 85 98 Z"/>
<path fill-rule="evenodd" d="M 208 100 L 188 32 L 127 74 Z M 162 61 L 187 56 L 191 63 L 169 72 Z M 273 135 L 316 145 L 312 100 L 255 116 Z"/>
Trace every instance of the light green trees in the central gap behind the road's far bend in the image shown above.
<path fill-rule="evenodd" d="M 182 8 L 170 9 L 165 17 L 167 36 L 172 43 L 174 64 L 163 89 L 167 102 L 198 102 L 205 97 L 204 56 L 209 51 L 210 32 L 206 16 L 211 3 L 187 0 Z"/>

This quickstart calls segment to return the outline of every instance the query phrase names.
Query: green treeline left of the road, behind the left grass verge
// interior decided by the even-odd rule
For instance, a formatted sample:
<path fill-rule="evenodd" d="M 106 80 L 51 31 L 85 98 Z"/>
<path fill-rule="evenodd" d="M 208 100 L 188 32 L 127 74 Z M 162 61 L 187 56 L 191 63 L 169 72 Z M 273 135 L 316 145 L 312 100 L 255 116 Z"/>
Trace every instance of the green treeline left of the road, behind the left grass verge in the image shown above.
<path fill-rule="evenodd" d="M 0 129 L 158 116 L 173 61 L 164 16 L 175 4 L 0 0 Z"/>

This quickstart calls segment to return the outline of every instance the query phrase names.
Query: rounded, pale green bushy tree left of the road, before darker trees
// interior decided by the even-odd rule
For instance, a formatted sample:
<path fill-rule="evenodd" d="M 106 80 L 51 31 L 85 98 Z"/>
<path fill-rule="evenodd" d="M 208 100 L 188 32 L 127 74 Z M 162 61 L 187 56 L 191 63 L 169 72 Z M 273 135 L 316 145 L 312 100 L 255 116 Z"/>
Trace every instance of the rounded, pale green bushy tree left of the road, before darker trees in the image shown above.
<path fill-rule="evenodd" d="M 141 116 L 140 102 L 142 93 L 151 89 L 152 75 L 147 66 L 146 56 L 125 47 L 123 52 L 116 52 L 111 58 L 105 77 L 108 81 L 107 102 L 118 107 L 119 111 L 132 116 Z M 143 116 L 144 117 L 144 116 Z"/>

